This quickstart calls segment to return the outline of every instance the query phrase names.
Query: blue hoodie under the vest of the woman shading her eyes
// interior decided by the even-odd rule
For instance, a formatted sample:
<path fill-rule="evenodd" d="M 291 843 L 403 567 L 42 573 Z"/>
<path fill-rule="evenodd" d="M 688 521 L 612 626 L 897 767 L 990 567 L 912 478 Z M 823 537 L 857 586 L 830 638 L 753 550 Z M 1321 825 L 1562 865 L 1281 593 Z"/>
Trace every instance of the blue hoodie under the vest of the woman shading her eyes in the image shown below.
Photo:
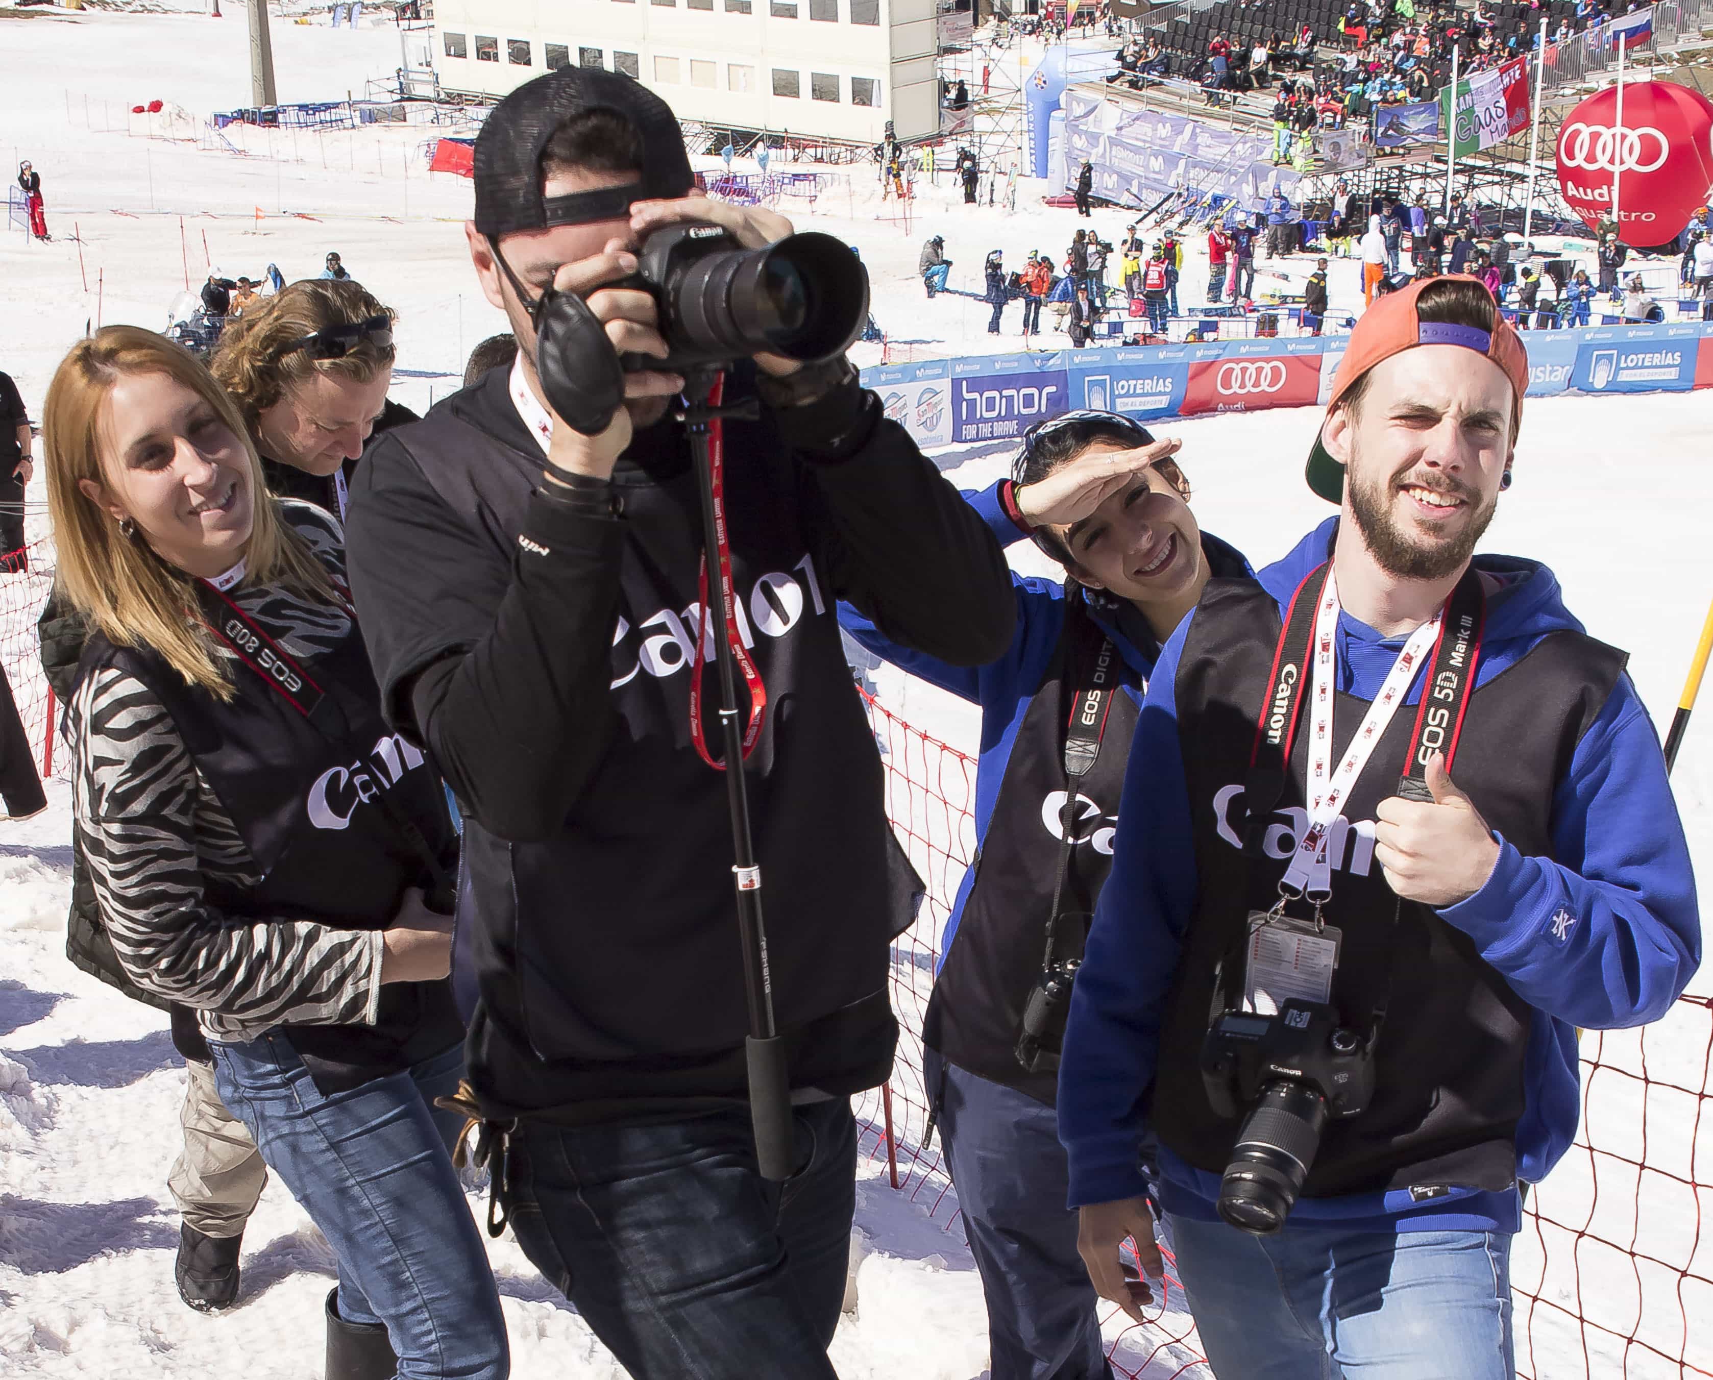
<path fill-rule="evenodd" d="M 964 493 L 964 500 L 987 520 L 1002 546 L 1026 541 L 1023 529 L 1011 520 L 1000 503 L 999 491 L 1006 481 L 1000 479 L 980 493 Z M 1230 546 L 1203 532 L 1203 544 L 1213 546 L 1233 565 L 1242 565 L 1249 572 L 1249 563 Z M 1011 639 L 1011 647 L 999 661 L 987 666 L 951 666 L 932 656 L 901 647 L 880 633 L 874 623 L 863 618 L 850 604 L 839 604 L 839 625 L 863 647 L 875 656 L 886 657 L 894 666 L 910 671 L 913 676 L 951 690 L 959 699 L 982 707 L 982 748 L 975 774 L 975 837 L 976 848 L 987 839 L 987 827 L 994 818 L 994 801 L 999 800 L 999 782 L 1006 777 L 1006 764 L 1011 760 L 1011 748 L 1018 741 L 1018 728 L 1030 711 L 1035 692 L 1040 690 L 1059 645 L 1059 635 L 1065 622 L 1065 586 L 1060 580 L 1024 579 L 1012 572 L 1012 591 L 1018 598 L 1018 630 Z M 1072 598 L 1083 598 L 1081 587 Z M 1148 676 L 1155 669 L 1160 645 L 1143 632 L 1131 618 L 1117 618 L 1112 601 L 1089 601 L 1088 611 L 1095 623 L 1112 639 L 1119 654 L 1132 666 L 1141 678 L 1141 688 L 1125 687 L 1125 693 L 1141 704 L 1148 685 Z M 1124 628 L 1132 635 L 1125 635 Z M 951 950 L 952 937 L 963 918 L 964 901 L 970 899 L 970 887 L 975 882 L 975 868 L 964 871 L 958 885 L 958 897 L 952 902 L 952 914 L 940 938 L 940 962 Z"/>

